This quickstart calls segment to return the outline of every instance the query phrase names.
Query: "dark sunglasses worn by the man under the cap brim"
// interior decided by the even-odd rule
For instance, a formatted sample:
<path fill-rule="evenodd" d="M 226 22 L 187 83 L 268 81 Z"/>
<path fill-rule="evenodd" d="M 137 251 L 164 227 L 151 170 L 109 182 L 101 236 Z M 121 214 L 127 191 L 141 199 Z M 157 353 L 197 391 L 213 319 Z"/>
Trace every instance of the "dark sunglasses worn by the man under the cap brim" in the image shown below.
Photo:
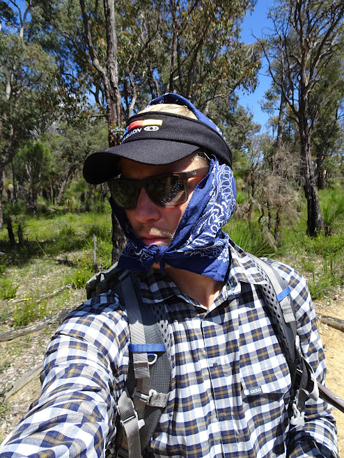
<path fill-rule="evenodd" d="M 124 210 L 136 208 L 141 188 L 148 194 L 150 200 L 160 207 L 177 207 L 189 198 L 189 186 L 187 180 L 194 177 L 205 177 L 208 167 L 196 168 L 189 172 L 172 172 L 144 180 L 127 180 L 115 178 L 109 180 L 111 197 L 116 205 Z"/>

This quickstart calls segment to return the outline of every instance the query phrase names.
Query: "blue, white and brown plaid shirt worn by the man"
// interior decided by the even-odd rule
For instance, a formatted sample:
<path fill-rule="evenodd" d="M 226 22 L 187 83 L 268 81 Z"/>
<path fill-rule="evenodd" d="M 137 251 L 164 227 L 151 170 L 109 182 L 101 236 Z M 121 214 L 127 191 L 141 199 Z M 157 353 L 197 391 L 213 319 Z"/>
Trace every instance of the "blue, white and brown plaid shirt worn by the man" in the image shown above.
<path fill-rule="evenodd" d="M 150 441 L 154 457 L 338 457 L 324 402 L 306 402 L 306 425 L 290 427 L 290 373 L 251 259 L 230 246 L 228 284 L 207 310 L 166 276 L 141 275 L 143 302 L 166 309 L 172 386 Z M 286 279 L 304 354 L 318 381 L 325 357 L 304 278 Z M 129 331 L 114 292 L 86 301 L 47 350 L 42 394 L 0 448 L 0 457 L 104 457 L 116 434 L 116 400 L 127 379 Z M 258 393 L 258 394 L 257 394 Z"/>

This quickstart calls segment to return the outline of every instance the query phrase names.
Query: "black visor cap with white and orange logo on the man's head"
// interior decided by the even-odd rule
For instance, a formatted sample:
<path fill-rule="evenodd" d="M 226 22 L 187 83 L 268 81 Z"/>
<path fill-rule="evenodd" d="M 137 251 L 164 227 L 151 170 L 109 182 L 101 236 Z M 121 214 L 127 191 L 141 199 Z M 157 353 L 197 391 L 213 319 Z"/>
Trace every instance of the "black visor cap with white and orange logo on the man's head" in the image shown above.
<path fill-rule="evenodd" d="M 203 115 L 203 119 L 208 120 Z M 211 124 L 210 124 L 211 123 Z M 217 156 L 232 166 L 232 155 L 219 129 L 210 120 L 203 123 L 187 116 L 162 111 L 146 111 L 132 116 L 120 145 L 88 156 L 84 164 L 85 180 L 99 184 L 118 175 L 120 157 L 142 164 L 171 164 L 196 150 Z"/>

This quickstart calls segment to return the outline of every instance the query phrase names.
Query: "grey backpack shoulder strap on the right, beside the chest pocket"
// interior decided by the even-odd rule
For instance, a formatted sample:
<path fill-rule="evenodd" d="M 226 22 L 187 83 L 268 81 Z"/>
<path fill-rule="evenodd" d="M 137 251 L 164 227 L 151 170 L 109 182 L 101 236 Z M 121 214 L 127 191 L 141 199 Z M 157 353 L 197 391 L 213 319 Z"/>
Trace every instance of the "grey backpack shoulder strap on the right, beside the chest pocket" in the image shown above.
<path fill-rule="evenodd" d="M 261 289 L 278 330 L 282 349 L 289 366 L 292 381 L 290 400 L 293 413 L 290 423 L 304 426 L 304 404 L 308 397 L 318 400 L 319 390 L 313 369 L 304 358 L 300 347 L 290 288 L 279 275 L 279 272 L 267 262 L 250 253 L 247 255 L 255 262 L 258 270 L 267 281 L 267 285 L 261 285 Z"/>

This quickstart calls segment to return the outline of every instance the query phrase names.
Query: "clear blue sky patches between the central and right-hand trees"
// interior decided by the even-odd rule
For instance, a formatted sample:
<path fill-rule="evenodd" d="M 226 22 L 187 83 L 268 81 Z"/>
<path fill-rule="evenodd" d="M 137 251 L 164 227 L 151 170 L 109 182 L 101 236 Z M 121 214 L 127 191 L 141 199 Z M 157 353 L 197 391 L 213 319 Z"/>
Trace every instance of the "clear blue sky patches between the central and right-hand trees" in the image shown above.
<path fill-rule="evenodd" d="M 267 13 L 273 3 L 273 0 L 258 0 L 253 13 L 247 13 L 242 24 L 241 34 L 242 40 L 245 43 L 255 41 L 253 35 L 256 36 L 256 38 L 260 38 L 262 36 L 262 29 L 267 29 L 267 27 L 269 27 Z M 253 112 L 253 121 L 260 124 L 263 131 L 265 130 L 265 124 L 269 117 L 266 113 L 261 111 L 259 100 L 263 99 L 265 91 L 269 88 L 269 84 L 270 78 L 266 75 L 266 65 L 263 61 L 262 68 L 260 68 L 259 72 L 259 84 L 254 93 L 244 94 L 242 91 L 238 93 L 240 105 L 251 109 Z"/>

